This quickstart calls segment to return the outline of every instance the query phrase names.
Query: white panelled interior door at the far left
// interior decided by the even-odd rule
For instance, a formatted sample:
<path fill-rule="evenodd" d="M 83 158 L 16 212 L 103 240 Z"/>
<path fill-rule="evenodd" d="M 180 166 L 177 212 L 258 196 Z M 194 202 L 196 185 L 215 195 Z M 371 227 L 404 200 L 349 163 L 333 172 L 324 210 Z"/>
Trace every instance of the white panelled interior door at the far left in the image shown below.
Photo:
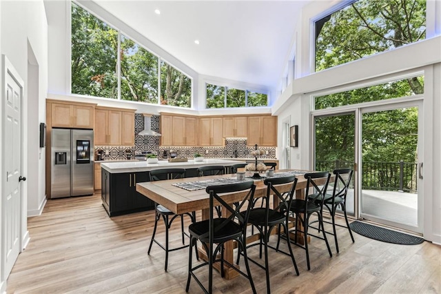
<path fill-rule="evenodd" d="M 4 280 L 20 252 L 21 228 L 21 98 L 23 80 L 17 75 L 8 59 L 3 57 L 3 164 L 6 178 L 3 178 L 2 193 L 2 267 Z"/>

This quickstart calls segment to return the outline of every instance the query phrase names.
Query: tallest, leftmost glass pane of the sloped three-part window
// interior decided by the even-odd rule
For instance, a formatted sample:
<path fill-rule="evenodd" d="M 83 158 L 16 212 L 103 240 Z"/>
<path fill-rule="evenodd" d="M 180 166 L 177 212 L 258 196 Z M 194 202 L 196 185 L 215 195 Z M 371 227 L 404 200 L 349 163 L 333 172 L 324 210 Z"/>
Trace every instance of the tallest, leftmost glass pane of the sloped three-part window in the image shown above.
<path fill-rule="evenodd" d="M 72 3 L 72 93 L 118 97 L 118 32 Z"/>

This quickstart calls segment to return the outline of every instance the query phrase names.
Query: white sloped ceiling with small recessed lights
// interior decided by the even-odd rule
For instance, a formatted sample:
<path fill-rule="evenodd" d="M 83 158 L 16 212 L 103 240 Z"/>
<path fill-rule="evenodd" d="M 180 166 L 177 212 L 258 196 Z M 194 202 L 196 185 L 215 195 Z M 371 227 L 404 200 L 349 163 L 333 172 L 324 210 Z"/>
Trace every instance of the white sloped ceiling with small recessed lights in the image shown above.
<path fill-rule="evenodd" d="M 199 74 L 268 89 L 278 86 L 309 1 L 95 0 Z"/>

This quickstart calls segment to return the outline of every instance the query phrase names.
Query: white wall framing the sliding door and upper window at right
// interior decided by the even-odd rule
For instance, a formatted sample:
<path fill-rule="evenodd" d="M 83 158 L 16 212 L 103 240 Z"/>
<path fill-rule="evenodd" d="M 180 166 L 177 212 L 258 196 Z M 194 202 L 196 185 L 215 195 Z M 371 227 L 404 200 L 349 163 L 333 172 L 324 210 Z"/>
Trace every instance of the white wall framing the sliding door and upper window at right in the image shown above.
<path fill-rule="evenodd" d="M 311 95 L 317 92 L 360 88 L 382 79 L 400 77 L 409 72 L 424 73 L 424 238 L 441 244 L 441 1 L 427 1 L 427 39 L 396 50 L 366 57 L 342 66 L 317 73 L 312 72 L 312 47 L 309 39 L 311 23 L 342 1 L 320 1 L 309 4 L 302 11 L 302 21 L 296 28 L 296 77 L 280 95 L 272 108 L 281 121 L 289 116 L 291 125 L 299 126 L 299 147 L 291 148 L 291 168 L 311 168 Z M 279 138 L 279 146 L 281 141 Z M 296 150 L 298 149 L 298 150 Z M 281 147 L 278 148 L 280 154 Z M 294 159 L 300 152 L 300 160 Z"/>

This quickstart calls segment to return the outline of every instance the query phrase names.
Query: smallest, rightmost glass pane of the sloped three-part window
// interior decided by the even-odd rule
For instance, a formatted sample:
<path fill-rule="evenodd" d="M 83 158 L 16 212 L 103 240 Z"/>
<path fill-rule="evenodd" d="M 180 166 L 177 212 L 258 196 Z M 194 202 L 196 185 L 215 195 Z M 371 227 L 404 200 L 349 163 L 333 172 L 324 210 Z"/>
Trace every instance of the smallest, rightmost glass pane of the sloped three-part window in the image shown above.
<path fill-rule="evenodd" d="M 170 64 L 161 61 L 161 104 L 190 107 L 192 80 Z"/>

